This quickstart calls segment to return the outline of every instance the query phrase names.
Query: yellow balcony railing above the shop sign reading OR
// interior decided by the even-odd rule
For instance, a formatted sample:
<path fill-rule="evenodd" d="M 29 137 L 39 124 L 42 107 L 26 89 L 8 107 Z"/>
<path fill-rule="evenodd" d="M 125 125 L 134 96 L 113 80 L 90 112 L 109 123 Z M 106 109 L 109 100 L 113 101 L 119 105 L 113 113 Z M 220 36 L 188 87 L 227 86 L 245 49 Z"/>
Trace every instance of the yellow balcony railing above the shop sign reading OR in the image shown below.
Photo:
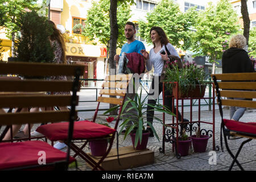
<path fill-rule="evenodd" d="M 90 41 L 88 36 L 84 36 L 81 34 L 64 34 L 64 40 L 67 43 L 75 43 L 75 44 L 97 44 L 94 41 Z"/>

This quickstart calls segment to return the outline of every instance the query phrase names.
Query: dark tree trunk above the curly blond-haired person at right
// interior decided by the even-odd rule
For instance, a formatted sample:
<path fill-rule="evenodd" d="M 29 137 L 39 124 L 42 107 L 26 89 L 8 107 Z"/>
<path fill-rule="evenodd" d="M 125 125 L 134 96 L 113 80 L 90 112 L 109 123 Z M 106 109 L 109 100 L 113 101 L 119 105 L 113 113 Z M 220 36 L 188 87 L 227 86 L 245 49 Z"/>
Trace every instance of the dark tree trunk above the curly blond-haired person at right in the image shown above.
<path fill-rule="evenodd" d="M 249 18 L 246 0 L 241 0 L 241 14 L 243 17 L 243 36 L 245 36 L 246 38 L 246 51 L 247 51 L 249 34 L 250 34 L 250 18 Z"/>

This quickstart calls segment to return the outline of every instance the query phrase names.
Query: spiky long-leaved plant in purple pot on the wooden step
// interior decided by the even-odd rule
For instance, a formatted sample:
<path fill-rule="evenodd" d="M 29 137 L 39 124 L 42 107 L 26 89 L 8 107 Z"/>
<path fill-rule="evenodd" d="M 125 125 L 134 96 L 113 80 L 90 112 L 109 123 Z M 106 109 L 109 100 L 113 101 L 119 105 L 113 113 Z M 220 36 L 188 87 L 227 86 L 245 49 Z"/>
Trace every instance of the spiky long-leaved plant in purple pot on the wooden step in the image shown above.
<path fill-rule="evenodd" d="M 131 135 L 131 141 L 133 143 L 135 150 L 144 150 L 147 147 L 148 136 L 150 134 L 148 131 L 146 131 L 147 125 L 151 127 L 155 137 L 159 140 L 158 134 L 156 133 L 154 126 L 152 125 L 152 123 L 147 122 L 147 119 L 146 119 L 147 111 L 146 110 L 143 111 L 143 109 L 145 107 L 151 106 L 154 108 L 155 111 L 160 111 L 163 113 L 175 115 L 170 110 L 168 110 L 165 106 L 163 106 L 161 104 L 156 104 L 155 106 L 147 104 L 146 103 L 147 97 L 148 96 L 146 96 L 142 100 L 142 90 L 141 90 L 140 94 L 136 93 L 136 95 L 135 95 L 135 98 L 137 98 L 137 99 L 131 100 L 130 98 L 128 98 L 128 100 L 123 104 L 123 108 L 121 111 L 121 115 L 122 115 L 123 111 L 127 107 L 127 104 L 129 104 L 129 103 L 131 103 L 132 107 L 127 109 L 127 111 L 129 111 L 131 109 L 137 110 L 137 114 L 127 114 L 129 116 L 126 116 L 126 118 L 123 119 L 123 121 L 120 125 L 120 127 L 121 127 L 120 131 L 122 131 L 124 128 L 126 128 L 124 139 L 126 139 L 127 135 Z M 119 106 L 115 106 L 115 107 L 109 109 L 108 111 L 106 111 L 104 114 L 110 113 L 110 111 L 115 110 L 118 107 Z M 157 117 L 153 117 L 153 118 L 155 119 L 155 121 L 158 121 L 159 123 L 163 124 L 162 119 L 159 119 Z M 130 121 L 133 122 L 133 125 L 129 125 Z"/>

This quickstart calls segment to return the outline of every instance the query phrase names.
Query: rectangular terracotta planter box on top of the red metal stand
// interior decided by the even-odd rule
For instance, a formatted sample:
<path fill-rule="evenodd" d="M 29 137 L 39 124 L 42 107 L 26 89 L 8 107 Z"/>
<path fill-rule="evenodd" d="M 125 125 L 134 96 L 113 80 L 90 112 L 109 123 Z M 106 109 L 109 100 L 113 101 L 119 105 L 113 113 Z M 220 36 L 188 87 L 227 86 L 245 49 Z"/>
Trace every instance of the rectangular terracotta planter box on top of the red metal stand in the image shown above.
<path fill-rule="evenodd" d="M 200 89 L 201 87 L 201 89 Z M 176 85 L 172 88 L 172 96 L 177 97 L 177 94 L 179 94 L 179 97 L 191 97 L 191 98 L 196 98 L 196 97 L 204 97 L 205 94 L 205 85 L 196 85 L 195 89 L 188 90 L 188 93 L 181 93 L 180 89 L 176 90 Z"/>

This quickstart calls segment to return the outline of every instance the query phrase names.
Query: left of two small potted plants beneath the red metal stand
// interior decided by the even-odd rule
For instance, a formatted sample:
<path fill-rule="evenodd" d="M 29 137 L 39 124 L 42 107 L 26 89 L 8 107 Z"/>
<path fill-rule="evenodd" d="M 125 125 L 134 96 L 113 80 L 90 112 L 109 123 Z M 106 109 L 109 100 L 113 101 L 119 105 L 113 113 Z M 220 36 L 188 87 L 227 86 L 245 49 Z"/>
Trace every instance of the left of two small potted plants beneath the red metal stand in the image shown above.
<path fill-rule="evenodd" d="M 183 129 L 181 137 L 178 140 L 177 152 L 180 156 L 187 156 L 189 147 L 191 146 L 192 139 L 185 134 L 186 130 Z"/>

